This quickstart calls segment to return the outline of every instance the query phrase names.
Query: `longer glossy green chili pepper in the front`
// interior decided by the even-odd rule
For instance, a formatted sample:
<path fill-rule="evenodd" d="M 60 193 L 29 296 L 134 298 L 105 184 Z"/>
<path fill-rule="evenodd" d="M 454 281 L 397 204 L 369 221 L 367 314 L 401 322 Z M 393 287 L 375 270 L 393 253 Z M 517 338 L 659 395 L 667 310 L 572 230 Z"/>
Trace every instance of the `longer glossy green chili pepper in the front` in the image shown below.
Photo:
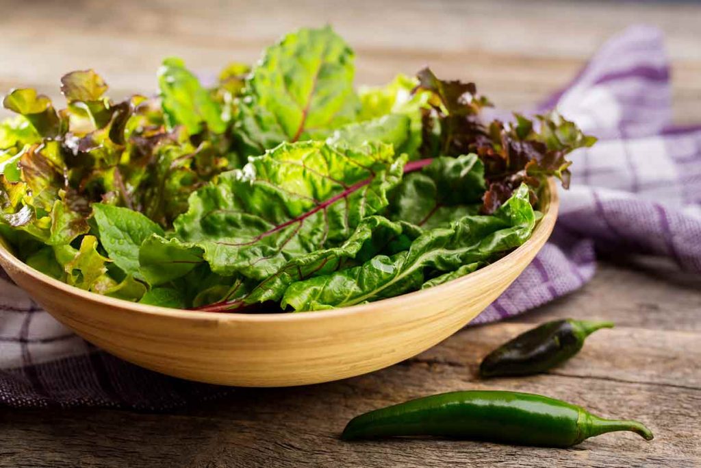
<path fill-rule="evenodd" d="M 637 421 L 606 420 L 580 406 L 527 393 L 472 391 L 426 396 L 365 413 L 348 422 L 341 439 L 445 436 L 517 445 L 570 447 L 606 432 L 632 431 L 653 439 Z"/>

